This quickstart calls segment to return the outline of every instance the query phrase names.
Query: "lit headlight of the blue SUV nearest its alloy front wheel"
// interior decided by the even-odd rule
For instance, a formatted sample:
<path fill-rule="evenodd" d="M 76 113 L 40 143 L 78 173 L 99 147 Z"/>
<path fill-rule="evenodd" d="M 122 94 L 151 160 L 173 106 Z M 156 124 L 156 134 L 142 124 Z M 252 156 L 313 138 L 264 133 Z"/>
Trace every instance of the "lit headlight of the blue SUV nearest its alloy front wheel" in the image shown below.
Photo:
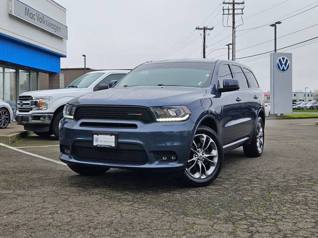
<path fill-rule="evenodd" d="M 187 120 L 191 111 L 186 106 L 153 107 L 158 122 Z"/>

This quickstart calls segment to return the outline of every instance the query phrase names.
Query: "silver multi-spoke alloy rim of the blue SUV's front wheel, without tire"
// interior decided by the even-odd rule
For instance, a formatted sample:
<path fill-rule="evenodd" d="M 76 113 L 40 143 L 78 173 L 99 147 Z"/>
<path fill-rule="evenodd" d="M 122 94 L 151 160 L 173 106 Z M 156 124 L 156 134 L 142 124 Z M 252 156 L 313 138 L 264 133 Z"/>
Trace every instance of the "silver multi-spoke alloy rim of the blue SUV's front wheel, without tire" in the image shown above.
<path fill-rule="evenodd" d="M 218 163 L 218 149 L 213 139 L 206 134 L 194 136 L 191 156 L 186 172 L 195 179 L 206 179 L 212 175 Z"/>

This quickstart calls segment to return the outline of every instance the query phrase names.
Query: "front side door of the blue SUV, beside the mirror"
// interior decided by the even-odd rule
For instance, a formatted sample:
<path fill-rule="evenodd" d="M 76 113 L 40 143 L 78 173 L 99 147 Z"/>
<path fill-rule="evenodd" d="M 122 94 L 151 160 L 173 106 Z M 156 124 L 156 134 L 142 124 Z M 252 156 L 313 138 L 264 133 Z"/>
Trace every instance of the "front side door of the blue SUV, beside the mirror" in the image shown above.
<path fill-rule="evenodd" d="M 229 63 L 223 63 L 218 70 L 218 84 L 223 85 L 223 79 L 234 78 Z M 241 103 L 239 91 L 224 92 L 221 95 L 222 101 L 222 135 L 223 145 L 230 144 L 240 137 L 239 124 L 236 123 L 241 117 Z"/>

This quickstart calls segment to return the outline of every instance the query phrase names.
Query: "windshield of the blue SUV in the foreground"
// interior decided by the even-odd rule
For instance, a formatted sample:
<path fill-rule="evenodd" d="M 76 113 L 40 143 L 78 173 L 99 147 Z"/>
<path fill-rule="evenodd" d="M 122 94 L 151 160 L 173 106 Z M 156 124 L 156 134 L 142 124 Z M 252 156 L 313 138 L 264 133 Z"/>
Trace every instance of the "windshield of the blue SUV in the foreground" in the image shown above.
<path fill-rule="evenodd" d="M 123 86 L 185 86 L 210 85 L 215 63 L 171 62 L 142 64 L 120 80 Z"/>

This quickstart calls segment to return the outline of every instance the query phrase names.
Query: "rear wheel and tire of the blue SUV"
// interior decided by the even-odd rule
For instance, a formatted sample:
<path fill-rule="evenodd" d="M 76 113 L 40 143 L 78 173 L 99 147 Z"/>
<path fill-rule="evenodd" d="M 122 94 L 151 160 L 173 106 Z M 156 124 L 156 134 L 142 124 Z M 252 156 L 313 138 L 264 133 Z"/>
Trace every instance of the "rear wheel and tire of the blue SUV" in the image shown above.
<path fill-rule="evenodd" d="M 249 145 L 243 145 L 244 154 L 248 157 L 259 157 L 264 149 L 264 123 L 258 117 L 253 132 L 252 141 Z"/>

